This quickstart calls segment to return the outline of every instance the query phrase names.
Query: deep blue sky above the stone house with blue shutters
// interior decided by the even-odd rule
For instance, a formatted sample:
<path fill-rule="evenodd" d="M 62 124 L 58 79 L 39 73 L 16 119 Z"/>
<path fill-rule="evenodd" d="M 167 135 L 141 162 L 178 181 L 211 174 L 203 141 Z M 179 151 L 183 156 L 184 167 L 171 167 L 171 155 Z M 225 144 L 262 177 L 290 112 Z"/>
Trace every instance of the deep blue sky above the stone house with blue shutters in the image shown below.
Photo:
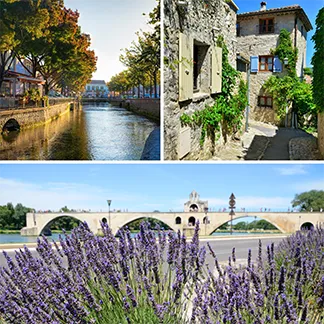
<path fill-rule="evenodd" d="M 261 0 L 234 0 L 237 6 L 240 8 L 238 13 L 243 13 L 247 11 L 256 11 L 260 9 Z M 314 54 L 314 44 L 311 40 L 315 29 L 315 20 L 318 11 L 324 6 L 324 0 L 269 0 L 267 2 L 267 8 L 278 8 L 278 7 L 285 7 L 298 4 L 300 5 L 306 12 L 309 20 L 313 25 L 313 30 L 308 33 L 307 40 L 307 66 L 311 66 L 312 56 Z"/>

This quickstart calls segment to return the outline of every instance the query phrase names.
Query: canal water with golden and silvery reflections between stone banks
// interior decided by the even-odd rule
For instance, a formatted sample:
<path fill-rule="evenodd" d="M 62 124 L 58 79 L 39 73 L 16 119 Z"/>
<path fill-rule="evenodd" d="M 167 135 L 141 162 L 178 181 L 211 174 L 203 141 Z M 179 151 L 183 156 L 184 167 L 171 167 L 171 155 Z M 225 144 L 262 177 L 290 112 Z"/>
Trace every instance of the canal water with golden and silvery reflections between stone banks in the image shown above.
<path fill-rule="evenodd" d="M 84 104 L 43 126 L 0 135 L 0 160 L 140 160 L 157 126 L 109 103 Z"/>

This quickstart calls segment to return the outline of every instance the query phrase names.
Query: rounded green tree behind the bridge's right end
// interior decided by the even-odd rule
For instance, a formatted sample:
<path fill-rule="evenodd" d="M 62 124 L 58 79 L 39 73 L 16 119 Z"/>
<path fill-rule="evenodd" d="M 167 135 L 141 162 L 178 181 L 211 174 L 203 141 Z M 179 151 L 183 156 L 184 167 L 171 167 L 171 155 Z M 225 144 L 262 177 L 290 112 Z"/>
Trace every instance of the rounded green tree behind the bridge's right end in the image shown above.
<path fill-rule="evenodd" d="M 324 209 L 324 191 L 311 190 L 296 194 L 294 200 L 291 202 L 293 207 L 299 207 L 301 211 L 320 211 Z"/>

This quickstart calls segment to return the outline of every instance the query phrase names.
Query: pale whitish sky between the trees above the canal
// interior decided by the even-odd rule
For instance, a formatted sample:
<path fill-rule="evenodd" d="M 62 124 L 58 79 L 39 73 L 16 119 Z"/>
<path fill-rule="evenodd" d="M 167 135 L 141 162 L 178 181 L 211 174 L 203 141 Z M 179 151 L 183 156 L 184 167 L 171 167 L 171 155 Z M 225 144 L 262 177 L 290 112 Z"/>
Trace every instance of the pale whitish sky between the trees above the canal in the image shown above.
<path fill-rule="evenodd" d="M 155 0 L 65 0 L 65 6 L 80 13 L 82 32 L 90 34 L 91 48 L 98 57 L 94 80 L 105 80 L 123 71 L 120 63 L 121 49 L 128 48 L 137 39 L 137 31 L 150 30 L 148 14 L 156 5 Z"/>

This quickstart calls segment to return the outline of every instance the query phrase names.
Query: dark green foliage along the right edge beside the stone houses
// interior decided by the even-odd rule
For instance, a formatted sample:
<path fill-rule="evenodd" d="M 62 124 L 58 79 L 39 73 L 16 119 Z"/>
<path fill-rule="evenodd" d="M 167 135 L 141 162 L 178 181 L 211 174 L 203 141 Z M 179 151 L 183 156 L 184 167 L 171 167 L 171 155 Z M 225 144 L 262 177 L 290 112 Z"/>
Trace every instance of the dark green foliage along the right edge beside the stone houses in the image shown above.
<path fill-rule="evenodd" d="M 322 8 L 316 18 L 316 32 L 313 36 L 315 43 L 315 53 L 312 59 L 314 66 L 313 91 L 314 101 L 318 111 L 324 111 L 324 8 Z"/>

